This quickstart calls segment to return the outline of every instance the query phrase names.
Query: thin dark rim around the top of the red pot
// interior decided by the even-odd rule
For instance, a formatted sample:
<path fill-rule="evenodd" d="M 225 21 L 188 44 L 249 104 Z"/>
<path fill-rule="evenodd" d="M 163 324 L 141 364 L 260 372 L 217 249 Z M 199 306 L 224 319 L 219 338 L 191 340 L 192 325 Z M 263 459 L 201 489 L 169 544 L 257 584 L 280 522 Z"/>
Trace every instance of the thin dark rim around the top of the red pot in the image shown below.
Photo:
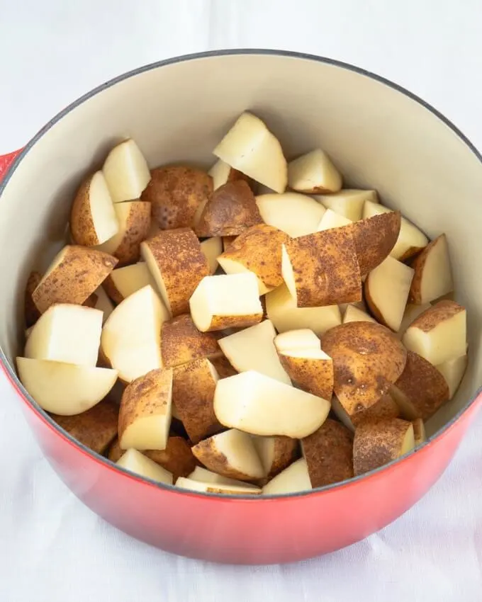
<path fill-rule="evenodd" d="M 432 105 L 430 105 L 426 101 L 422 100 L 422 98 L 420 98 L 416 94 L 408 91 L 403 86 L 395 84 L 393 81 L 386 79 L 383 76 L 374 74 L 373 72 L 370 72 L 367 69 L 363 69 L 361 67 L 356 67 L 347 62 L 342 62 L 342 61 L 339 61 L 336 59 L 331 59 L 328 57 L 319 57 L 317 55 L 310 55 L 310 54 L 307 54 L 304 52 L 295 52 L 295 51 L 291 51 L 291 50 L 270 50 L 270 49 L 259 49 L 259 48 L 236 48 L 236 49 L 232 49 L 232 50 L 209 50 L 207 52 L 194 52 L 194 53 L 191 53 L 188 55 L 180 55 L 178 57 L 172 57 L 169 59 L 152 62 L 150 64 L 143 65 L 142 67 L 138 67 L 137 69 L 132 69 L 131 71 L 128 71 L 119 76 L 116 76 L 113 79 L 110 79 L 110 80 L 106 81 L 105 83 L 101 84 L 100 86 L 97 86 L 96 88 L 92 89 L 91 91 L 85 93 L 83 96 L 80 96 L 79 98 L 77 98 L 76 101 L 70 103 L 69 106 L 67 106 L 65 109 L 61 110 L 59 113 L 57 113 L 57 115 L 55 115 L 47 124 L 45 124 L 37 132 L 37 134 L 28 142 L 28 144 L 26 144 L 26 146 L 23 147 L 21 152 L 13 160 L 13 162 L 12 162 L 11 166 L 9 167 L 9 169 L 7 170 L 3 180 L 0 181 L 0 198 L 1 198 L 1 195 L 4 191 L 4 189 L 6 188 L 6 186 L 9 183 L 9 180 L 10 180 L 13 172 L 16 171 L 16 169 L 17 169 L 18 165 L 21 163 L 23 157 L 26 157 L 26 154 L 28 154 L 28 152 L 30 152 L 30 150 L 35 146 L 35 144 L 38 142 L 38 140 L 40 140 L 40 138 L 43 137 L 43 135 L 48 130 L 50 130 L 50 128 L 53 125 L 55 125 L 60 120 L 62 120 L 62 118 L 65 117 L 65 115 L 67 115 L 71 110 L 74 110 L 78 106 L 82 105 L 82 103 L 84 103 L 85 101 L 88 101 L 90 98 L 96 96 L 98 93 L 101 93 L 104 90 L 111 88 L 111 86 L 114 86 L 114 85 L 120 83 L 120 81 L 124 81 L 125 79 L 129 79 L 130 77 L 142 74 L 144 72 L 151 71 L 153 69 L 158 69 L 159 67 L 166 67 L 168 65 L 181 63 L 181 62 L 187 62 L 187 61 L 196 60 L 196 59 L 204 59 L 204 58 L 219 57 L 219 56 L 235 56 L 235 55 L 270 55 L 270 56 L 288 57 L 288 58 L 293 58 L 293 59 L 310 60 L 310 61 L 314 61 L 314 62 L 330 64 L 330 65 L 332 65 L 332 67 L 346 69 L 347 71 L 351 71 L 351 72 L 357 73 L 359 75 L 368 77 L 369 79 L 373 79 L 374 81 L 378 81 L 380 84 L 388 86 L 389 88 L 396 90 L 399 93 L 402 93 L 404 96 L 407 96 L 408 98 L 410 98 L 410 100 L 415 101 L 416 103 L 420 104 L 423 108 L 427 109 L 430 113 L 432 113 L 432 115 L 435 115 L 435 117 L 437 117 L 444 125 L 449 127 L 454 132 L 454 134 L 457 137 L 459 137 L 459 139 L 462 142 L 464 142 L 464 144 L 466 144 L 467 147 L 469 147 L 469 149 L 476 156 L 478 161 L 480 161 L 481 167 L 482 167 L 481 152 L 478 151 L 478 149 L 474 146 L 474 144 L 459 130 L 458 127 L 456 127 L 456 125 L 454 125 L 454 123 L 452 123 L 452 121 L 447 119 L 436 108 L 434 108 Z M 357 477 L 352 477 L 351 479 L 345 479 L 344 481 L 337 482 L 334 484 L 325 485 L 324 487 L 316 487 L 315 489 L 309 489 L 308 491 L 293 492 L 293 493 L 288 493 L 288 494 L 271 494 L 271 495 L 262 495 L 259 497 L 252 496 L 252 495 L 213 494 L 213 493 L 194 492 L 194 491 L 191 491 L 190 489 L 180 489 L 179 487 L 175 487 L 174 485 L 167 485 L 164 483 L 159 483 L 157 481 L 153 481 L 152 479 L 147 479 L 146 477 L 141 477 L 140 475 L 135 475 L 135 473 L 125 470 L 123 467 L 118 466 L 115 462 L 108 460 L 108 458 L 105 458 L 103 455 L 100 455 L 99 453 L 94 452 L 90 448 L 86 447 L 86 445 L 84 445 L 83 443 L 80 443 L 79 441 L 77 441 L 77 439 L 72 437 L 67 431 L 65 431 L 62 427 L 60 427 L 55 422 L 55 420 L 52 419 L 50 417 L 50 415 L 47 414 L 47 412 L 38 405 L 37 402 L 35 402 L 35 399 L 33 399 L 33 397 L 30 396 L 30 394 L 27 392 L 27 390 L 21 384 L 20 380 L 18 379 L 18 376 L 16 375 L 16 371 L 13 369 L 13 366 L 7 359 L 6 353 L 4 352 L 4 349 L 1 346 L 0 346 L 0 365 L 1 365 L 1 369 L 5 373 L 6 377 L 9 379 L 9 381 L 13 385 L 13 388 L 16 390 L 16 392 L 18 392 L 21 399 L 23 399 L 23 401 L 26 402 L 27 407 L 29 407 L 29 409 L 32 409 L 34 411 L 34 413 L 38 416 L 38 418 L 45 423 L 46 426 L 50 427 L 52 429 L 52 431 L 54 431 L 57 435 L 60 435 L 62 438 L 64 438 L 67 443 L 69 443 L 70 445 L 73 445 L 74 448 L 77 448 L 77 450 L 79 450 L 81 453 L 84 453 L 84 455 L 90 456 L 91 458 L 96 460 L 96 462 L 101 462 L 109 470 L 114 470 L 116 472 L 120 472 L 125 477 L 134 479 L 135 481 L 142 482 L 144 484 L 148 484 L 151 487 L 155 487 L 157 489 L 164 489 L 165 491 L 169 491 L 171 493 L 178 494 L 178 495 L 190 496 L 193 498 L 196 498 L 196 497 L 197 498 L 198 497 L 208 498 L 208 499 L 213 498 L 213 499 L 218 499 L 218 501 L 223 501 L 223 500 L 234 501 L 234 500 L 236 500 L 236 501 L 240 501 L 242 503 L 248 502 L 250 504 L 254 504 L 256 502 L 258 502 L 258 503 L 266 502 L 267 503 L 269 501 L 276 501 L 276 500 L 288 501 L 293 498 L 305 498 L 307 496 L 312 496 L 313 494 L 322 494 L 324 492 L 330 492 L 333 489 L 341 489 L 342 487 L 355 486 L 360 481 L 364 481 L 364 480 L 372 478 L 372 477 L 377 477 L 377 476 L 383 474 L 383 472 L 385 472 L 387 470 L 391 470 L 394 467 L 394 465 L 398 465 L 401 462 L 405 462 L 405 461 L 409 460 L 410 458 L 412 458 L 413 455 L 420 453 L 420 452 L 422 452 L 422 450 L 426 450 L 428 447 L 434 445 L 434 443 L 436 441 L 438 441 L 440 438 L 442 438 L 443 436 L 445 436 L 447 434 L 449 429 L 451 429 L 455 426 L 456 422 L 458 422 L 461 419 L 462 415 L 465 414 L 465 412 L 474 404 L 474 402 L 476 402 L 477 400 L 478 400 L 478 402 L 482 402 L 482 386 L 481 386 L 478 388 L 478 390 L 476 390 L 475 394 L 473 394 L 473 396 L 469 399 L 469 402 L 467 402 L 464 405 L 464 407 L 462 409 L 460 409 L 457 412 L 457 414 L 455 416 L 453 416 L 452 419 L 447 422 L 447 424 L 444 424 L 444 426 L 442 428 L 440 428 L 439 431 L 437 431 L 437 433 L 435 433 L 430 438 L 428 438 L 427 441 L 422 443 L 422 445 L 417 446 L 416 448 L 411 450 L 409 453 L 403 455 L 401 458 L 397 458 L 396 460 L 392 460 L 391 462 L 388 462 L 388 464 L 386 464 L 386 465 L 378 467 L 374 470 L 370 470 L 369 472 L 365 472 L 363 475 L 359 475 Z"/>

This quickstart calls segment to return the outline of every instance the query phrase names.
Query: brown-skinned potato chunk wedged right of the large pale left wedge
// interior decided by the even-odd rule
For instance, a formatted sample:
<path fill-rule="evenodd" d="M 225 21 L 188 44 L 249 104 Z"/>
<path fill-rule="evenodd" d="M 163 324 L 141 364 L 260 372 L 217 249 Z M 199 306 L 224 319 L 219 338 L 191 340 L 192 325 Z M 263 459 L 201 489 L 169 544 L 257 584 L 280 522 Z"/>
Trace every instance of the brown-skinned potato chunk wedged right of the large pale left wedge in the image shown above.
<path fill-rule="evenodd" d="M 199 358 L 218 358 L 223 352 L 211 332 L 200 332 L 189 314 L 181 314 L 162 324 L 162 365 L 165 368 L 192 362 Z"/>

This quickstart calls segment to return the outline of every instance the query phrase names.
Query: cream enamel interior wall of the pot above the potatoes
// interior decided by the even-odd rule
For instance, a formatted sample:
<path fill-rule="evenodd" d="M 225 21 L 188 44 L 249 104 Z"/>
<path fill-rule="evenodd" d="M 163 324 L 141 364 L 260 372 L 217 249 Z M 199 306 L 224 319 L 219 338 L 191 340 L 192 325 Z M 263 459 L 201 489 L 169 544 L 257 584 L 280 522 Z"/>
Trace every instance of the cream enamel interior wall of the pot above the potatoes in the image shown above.
<path fill-rule="evenodd" d="M 129 136 L 150 166 L 185 161 L 209 168 L 216 144 L 244 110 L 265 120 L 288 160 L 322 147 L 345 186 L 376 189 L 382 203 L 399 208 L 431 238 L 447 233 L 456 299 L 468 309 L 469 366 L 452 402 L 427 425 L 431 435 L 482 382 L 482 280 L 476 277 L 482 164 L 449 125 L 410 96 L 309 57 L 254 52 L 159 64 L 104 87 L 45 128 L 0 199 L 0 240 L 9 249 L 0 258 L 9 283 L 0 293 L 0 344 L 9 362 L 13 366 L 23 343 L 28 273 L 45 267 L 65 242 L 82 178 Z"/>

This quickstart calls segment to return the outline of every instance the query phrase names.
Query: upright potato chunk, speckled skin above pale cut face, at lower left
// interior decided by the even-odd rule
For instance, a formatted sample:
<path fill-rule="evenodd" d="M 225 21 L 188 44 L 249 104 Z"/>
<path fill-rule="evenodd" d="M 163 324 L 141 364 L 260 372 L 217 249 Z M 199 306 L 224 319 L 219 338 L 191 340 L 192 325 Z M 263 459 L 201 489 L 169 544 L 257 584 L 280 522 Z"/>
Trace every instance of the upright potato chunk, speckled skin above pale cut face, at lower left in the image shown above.
<path fill-rule="evenodd" d="M 172 368 L 151 370 L 122 395 L 119 445 L 123 450 L 164 450 L 171 426 Z"/>

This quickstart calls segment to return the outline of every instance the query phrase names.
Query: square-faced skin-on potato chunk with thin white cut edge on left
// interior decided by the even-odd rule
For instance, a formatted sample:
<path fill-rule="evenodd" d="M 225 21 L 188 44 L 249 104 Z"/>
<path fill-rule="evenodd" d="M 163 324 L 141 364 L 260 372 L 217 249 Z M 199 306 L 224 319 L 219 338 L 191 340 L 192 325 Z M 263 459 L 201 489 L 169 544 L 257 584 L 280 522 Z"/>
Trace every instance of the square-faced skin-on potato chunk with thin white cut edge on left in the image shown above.
<path fill-rule="evenodd" d="M 335 228 L 283 245 L 281 271 L 298 307 L 361 300 L 361 278 L 352 234 Z"/>

